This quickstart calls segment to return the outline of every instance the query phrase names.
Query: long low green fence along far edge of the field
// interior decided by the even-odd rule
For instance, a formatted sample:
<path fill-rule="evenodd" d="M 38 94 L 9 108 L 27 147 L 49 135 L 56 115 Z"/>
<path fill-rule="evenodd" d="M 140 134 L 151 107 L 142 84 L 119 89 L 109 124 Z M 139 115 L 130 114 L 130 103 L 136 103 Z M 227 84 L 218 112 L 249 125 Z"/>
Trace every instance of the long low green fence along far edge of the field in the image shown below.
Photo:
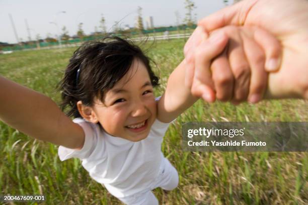
<path fill-rule="evenodd" d="M 165 27 L 165 28 L 156 28 L 156 29 L 148 29 L 148 30 L 143 30 L 142 37 L 134 37 L 140 35 L 138 32 L 130 32 L 128 35 L 131 36 L 131 38 L 135 41 L 138 40 L 144 40 L 144 38 L 147 38 L 147 40 L 169 40 L 169 39 L 177 39 L 177 38 L 188 38 L 190 36 L 190 33 L 184 33 L 186 29 L 195 29 L 196 26 L 192 27 L 187 27 L 187 26 L 180 26 L 180 27 Z M 162 32 L 176 32 L 176 31 L 181 31 L 181 34 L 164 34 L 164 35 L 159 35 L 156 36 L 156 33 L 162 33 Z M 150 36 L 153 34 L 154 36 Z M 112 34 L 113 36 L 121 36 L 122 34 Z M 124 34 L 125 35 L 125 34 Z M 127 35 L 127 34 L 126 34 Z M 144 36 L 145 35 L 145 36 Z M 149 36 L 147 36 L 149 35 Z M 73 46 L 78 46 L 84 41 L 94 41 L 99 39 L 99 37 L 91 36 L 87 37 L 84 39 L 72 39 L 72 40 L 67 40 L 61 41 L 62 45 L 59 45 L 59 42 L 40 42 L 37 44 L 29 44 L 29 45 L 15 45 L 15 46 L 10 46 L 10 47 L 5 47 L 2 48 L 2 51 L 8 52 L 8 51 L 20 51 L 20 50 L 35 50 L 35 49 L 51 49 L 51 48 L 59 48 L 59 47 L 73 47 Z"/>

